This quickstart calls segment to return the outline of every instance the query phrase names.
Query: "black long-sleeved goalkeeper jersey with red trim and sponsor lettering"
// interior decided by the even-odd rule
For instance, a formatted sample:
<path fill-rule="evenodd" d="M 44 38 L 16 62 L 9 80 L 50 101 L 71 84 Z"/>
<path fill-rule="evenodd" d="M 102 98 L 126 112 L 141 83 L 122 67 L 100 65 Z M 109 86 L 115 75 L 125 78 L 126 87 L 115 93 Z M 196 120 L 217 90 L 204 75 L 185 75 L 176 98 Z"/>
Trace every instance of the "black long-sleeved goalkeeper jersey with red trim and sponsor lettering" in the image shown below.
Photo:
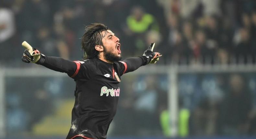
<path fill-rule="evenodd" d="M 42 56 L 41 65 L 67 73 L 76 81 L 72 123 L 66 139 L 80 136 L 85 139 L 106 139 L 109 125 L 116 114 L 122 91 L 121 76 L 146 64 L 144 56 L 128 58 L 113 64 L 98 58 L 69 61 Z"/>

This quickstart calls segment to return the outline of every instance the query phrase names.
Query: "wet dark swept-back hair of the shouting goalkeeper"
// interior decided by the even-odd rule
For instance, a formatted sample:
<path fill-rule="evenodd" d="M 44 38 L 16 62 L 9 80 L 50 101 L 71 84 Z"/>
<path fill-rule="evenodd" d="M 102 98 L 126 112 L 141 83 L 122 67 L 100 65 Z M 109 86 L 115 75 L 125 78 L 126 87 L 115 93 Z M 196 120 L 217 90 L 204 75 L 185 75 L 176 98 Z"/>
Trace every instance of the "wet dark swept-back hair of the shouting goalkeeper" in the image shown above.
<path fill-rule="evenodd" d="M 107 26 L 99 23 L 92 23 L 85 27 L 85 33 L 82 37 L 81 45 L 84 51 L 84 59 L 99 58 L 99 51 L 95 49 L 96 45 L 103 46 L 101 32 L 109 30 Z M 107 35 L 107 33 L 105 33 Z"/>

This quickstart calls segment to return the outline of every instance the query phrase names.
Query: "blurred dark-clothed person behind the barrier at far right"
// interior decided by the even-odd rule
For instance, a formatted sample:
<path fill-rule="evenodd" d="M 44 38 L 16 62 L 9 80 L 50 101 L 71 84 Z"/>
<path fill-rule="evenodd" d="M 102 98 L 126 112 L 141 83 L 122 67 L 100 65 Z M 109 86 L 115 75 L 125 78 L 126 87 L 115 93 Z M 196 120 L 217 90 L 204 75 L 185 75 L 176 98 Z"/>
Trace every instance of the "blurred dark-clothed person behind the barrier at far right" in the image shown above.
<path fill-rule="evenodd" d="M 233 74 L 229 79 L 227 96 L 222 104 L 221 134 L 248 134 L 248 118 L 252 108 L 250 91 L 245 87 L 247 82 L 239 74 Z"/>

